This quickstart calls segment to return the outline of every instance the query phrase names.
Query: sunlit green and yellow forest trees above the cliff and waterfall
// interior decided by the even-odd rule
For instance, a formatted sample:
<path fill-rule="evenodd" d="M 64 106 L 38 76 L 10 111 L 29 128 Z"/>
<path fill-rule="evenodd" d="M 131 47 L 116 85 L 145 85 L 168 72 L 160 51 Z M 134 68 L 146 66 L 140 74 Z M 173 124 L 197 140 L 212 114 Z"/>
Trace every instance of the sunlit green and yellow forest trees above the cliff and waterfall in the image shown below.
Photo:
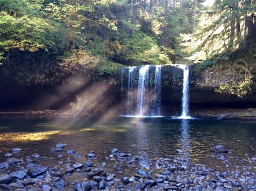
<path fill-rule="evenodd" d="M 255 58 L 255 0 L 207 2 L 0 0 L 0 71 L 22 84 L 52 84 L 80 65 L 112 75 L 122 65 L 204 68 L 248 49 Z"/>

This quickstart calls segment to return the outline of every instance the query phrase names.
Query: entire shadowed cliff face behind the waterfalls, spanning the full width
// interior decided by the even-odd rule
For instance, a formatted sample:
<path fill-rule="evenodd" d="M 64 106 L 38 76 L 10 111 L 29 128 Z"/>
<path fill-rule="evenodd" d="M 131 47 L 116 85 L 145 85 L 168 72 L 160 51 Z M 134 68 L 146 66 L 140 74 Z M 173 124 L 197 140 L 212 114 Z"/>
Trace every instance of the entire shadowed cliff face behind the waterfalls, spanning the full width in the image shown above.
<path fill-rule="evenodd" d="M 152 67 L 154 68 L 154 67 Z M 256 70 L 252 69 L 256 79 Z M 151 78 L 154 76 L 152 69 Z M 76 101 L 76 95 L 84 97 L 95 104 L 99 110 L 118 107 L 121 103 L 121 73 L 116 76 L 102 76 L 98 81 L 90 81 L 88 76 L 51 86 L 21 86 L 3 79 L 0 83 L 0 109 L 69 109 L 70 102 Z M 256 83 L 245 97 L 225 95 L 215 92 L 222 83 L 234 78 L 231 67 L 200 69 L 198 65 L 190 66 L 190 106 L 256 108 Z M 88 81 L 90 81 L 88 83 Z M 125 99 L 127 81 L 124 81 Z M 180 109 L 183 88 L 183 69 L 177 66 L 161 68 L 161 103 L 164 110 Z"/>

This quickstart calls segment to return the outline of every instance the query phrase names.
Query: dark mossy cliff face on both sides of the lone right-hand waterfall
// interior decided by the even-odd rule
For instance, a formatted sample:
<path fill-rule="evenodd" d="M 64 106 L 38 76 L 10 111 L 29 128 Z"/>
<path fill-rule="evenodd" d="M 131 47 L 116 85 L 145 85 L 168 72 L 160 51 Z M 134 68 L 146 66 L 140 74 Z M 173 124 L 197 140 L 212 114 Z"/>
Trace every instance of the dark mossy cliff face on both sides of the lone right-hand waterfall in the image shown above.
<path fill-rule="evenodd" d="M 256 79 L 255 70 L 251 70 Z M 190 104 L 206 107 L 256 107 L 256 83 L 245 97 L 219 94 L 215 90 L 223 83 L 235 78 L 237 72 L 232 67 L 200 69 L 190 66 Z M 179 102 L 182 96 L 183 71 L 174 66 L 163 67 L 162 101 Z"/>

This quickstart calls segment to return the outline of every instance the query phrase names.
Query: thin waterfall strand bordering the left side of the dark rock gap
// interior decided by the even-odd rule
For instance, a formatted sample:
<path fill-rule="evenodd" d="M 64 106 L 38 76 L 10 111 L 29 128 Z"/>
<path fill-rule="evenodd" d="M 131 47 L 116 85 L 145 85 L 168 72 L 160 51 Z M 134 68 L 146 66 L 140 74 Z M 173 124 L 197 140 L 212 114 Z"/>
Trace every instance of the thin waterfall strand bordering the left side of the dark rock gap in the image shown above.
<path fill-rule="evenodd" d="M 161 65 L 156 65 L 156 73 L 154 74 L 154 103 L 153 112 L 155 116 L 160 116 L 161 109 Z"/>

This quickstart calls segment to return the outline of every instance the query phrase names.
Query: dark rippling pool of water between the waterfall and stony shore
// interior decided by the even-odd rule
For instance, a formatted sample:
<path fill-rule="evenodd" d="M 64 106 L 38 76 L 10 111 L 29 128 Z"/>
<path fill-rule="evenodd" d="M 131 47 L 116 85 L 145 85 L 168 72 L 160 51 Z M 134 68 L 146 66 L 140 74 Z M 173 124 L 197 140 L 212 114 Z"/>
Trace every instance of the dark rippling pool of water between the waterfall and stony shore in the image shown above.
<path fill-rule="evenodd" d="M 256 121 L 216 121 L 213 119 L 174 119 L 117 117 L 108 121 L 70 118 L 0 118 L 0 162 L 5 153 L 19 147 L 13 157 L 38 153 L 61 159 L 50 153 L 56 143 L 66 143 L 82 157 L 95 151 L 98 160 L 108 156 L 111 148 L 148 158 L 187 157 L 190 162 L 217 169 L 227 168 L 220 155 L 211 153 L 214 145 L 225 146 L 230 164 L 228 168 L 253 166 L 247 159 L 256 154 Z M 176 150 L 181 153 L 177 153 Z M 65 152 L 62 153 L 64 156 Z M 82 158 L 82 159 L 83 159 Z M 47 161 L 47 160 L 46 160 Z M 51 163 L 49 161 L 48 165 Z M 248 163 L 248 164 L 247 164 Z M 255 169 L 255 167 L 253 167 Z"/>

